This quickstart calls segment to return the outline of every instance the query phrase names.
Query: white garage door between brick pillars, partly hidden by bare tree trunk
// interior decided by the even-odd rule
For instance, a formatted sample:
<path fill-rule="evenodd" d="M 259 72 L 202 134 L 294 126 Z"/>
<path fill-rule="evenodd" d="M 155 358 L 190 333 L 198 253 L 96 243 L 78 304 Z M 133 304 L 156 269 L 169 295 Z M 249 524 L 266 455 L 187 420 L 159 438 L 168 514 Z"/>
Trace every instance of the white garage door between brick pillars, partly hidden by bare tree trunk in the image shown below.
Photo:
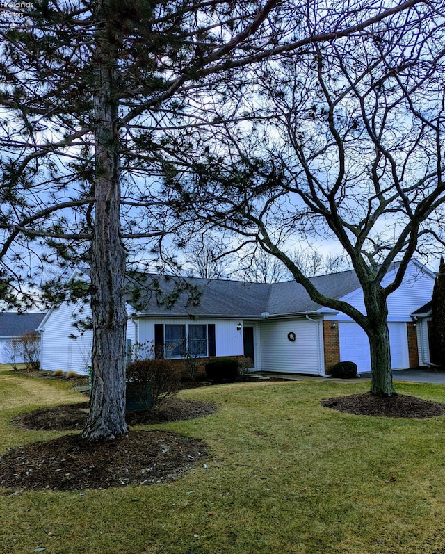
<path fill-rule="evenodd" d="M 406 323 L 388 323 L 393 369 L 408 368 Z M 339 323 L 340 359 L 355 361 L 359 372 L 371 371 L 371 354 L 366 333 L 357 323 Z"/>

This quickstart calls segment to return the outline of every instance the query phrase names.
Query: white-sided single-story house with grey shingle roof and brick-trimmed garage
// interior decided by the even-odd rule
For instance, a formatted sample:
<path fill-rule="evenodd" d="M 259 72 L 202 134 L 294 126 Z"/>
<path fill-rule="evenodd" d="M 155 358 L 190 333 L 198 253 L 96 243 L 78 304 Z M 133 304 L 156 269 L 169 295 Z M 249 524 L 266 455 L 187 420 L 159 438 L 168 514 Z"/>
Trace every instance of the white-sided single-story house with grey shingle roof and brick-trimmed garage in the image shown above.
<path fill-rule="evenodd" d="M 391 281 L 394 271 L 385 282 Z M 137 294 L 127 298 L 127 341 L 149 341 L 172 359 L 184 350 L 209 357 L 250 357 L 255 370 L 329 375 L 340 360 L 355 361 L 359 373 L 371 369 L 369 343 L 357 323 L 344 313 L 313 302 L 296 282 L 248 283 L 223 279 L 182 279 L 200 292 L 197 305 L 183 292 L 172 303 L 159 303 L 177 277 L 147 275 Z M 412 261 L 405 279 L 388 298 L 391 361 L 394 369 L 426 361 L 421 326 L 414 312 L 431 299 L 435 275 Z M 156 286 L 153 286 L 156 282 Z M 362 289 L 354 271 L 313 277 L 325 295 L 346 300 L 364 312 Z M 42 368 L 86 373 L 92 334 L 69 339 L 75 308 L 63 304 L 42 321 Z M 413 314 L 413 316 L 412 316 Z M 85 356 L 86 353 L 86 356 Z M 85 360 L 88 359 L 88 364 Z"/>

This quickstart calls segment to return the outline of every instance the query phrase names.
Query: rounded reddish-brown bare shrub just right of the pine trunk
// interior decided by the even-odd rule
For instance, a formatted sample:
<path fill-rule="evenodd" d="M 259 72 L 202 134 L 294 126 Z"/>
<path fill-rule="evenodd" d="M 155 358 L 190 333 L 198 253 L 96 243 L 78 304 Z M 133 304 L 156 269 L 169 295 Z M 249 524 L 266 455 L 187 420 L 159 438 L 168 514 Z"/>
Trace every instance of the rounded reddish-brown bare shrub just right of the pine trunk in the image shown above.
<path fill-rule="evenodd" d="M 165 398 L 179 391 L 179 375 L 168 359 L 143 359 L 127 366 L 127 381 L 145 409 L 159 406 Z M 147 391 L 151 406 L 147 403 Z"/>

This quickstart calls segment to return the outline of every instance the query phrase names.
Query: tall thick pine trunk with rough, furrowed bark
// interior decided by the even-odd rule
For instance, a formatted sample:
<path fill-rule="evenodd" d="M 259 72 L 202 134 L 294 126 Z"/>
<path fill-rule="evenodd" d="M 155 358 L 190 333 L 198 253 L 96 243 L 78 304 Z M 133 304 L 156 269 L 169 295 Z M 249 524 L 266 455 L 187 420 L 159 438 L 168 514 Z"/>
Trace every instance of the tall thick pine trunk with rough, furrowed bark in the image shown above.
<path fill-rule="evenodd" d="M 99 28 L 96 39 L 95 229 L 90 247 L 92 382 L 90 414 L 82 433 L 87 440 L 112 439 L 127 432 L 127 313 L 122 294 L 125 252 L 120 238 L 118 101 L 113 94 L 115 55 L 106 30 Z"/>

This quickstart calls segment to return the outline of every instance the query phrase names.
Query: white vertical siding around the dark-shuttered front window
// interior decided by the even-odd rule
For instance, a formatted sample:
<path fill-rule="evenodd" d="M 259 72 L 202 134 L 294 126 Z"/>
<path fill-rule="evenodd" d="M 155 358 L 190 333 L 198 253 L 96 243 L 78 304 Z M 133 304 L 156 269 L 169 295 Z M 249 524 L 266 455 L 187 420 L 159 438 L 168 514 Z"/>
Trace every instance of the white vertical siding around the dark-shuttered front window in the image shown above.
<path fill-rule="evenodd" d="M 188 325 L 197 323 L 202 325 L 215 324 L 215 342 L 217 356 L 242 356 L 244 352 L 243 329 L 237 331 L 240 319 L 210 319 L 199 318 L 190 320 L 188 318 L 141 318 L 138 320 L 138 342 L 154 342 L 154 325 L 157 323 L 172 323 L 174 325 Z"/>

